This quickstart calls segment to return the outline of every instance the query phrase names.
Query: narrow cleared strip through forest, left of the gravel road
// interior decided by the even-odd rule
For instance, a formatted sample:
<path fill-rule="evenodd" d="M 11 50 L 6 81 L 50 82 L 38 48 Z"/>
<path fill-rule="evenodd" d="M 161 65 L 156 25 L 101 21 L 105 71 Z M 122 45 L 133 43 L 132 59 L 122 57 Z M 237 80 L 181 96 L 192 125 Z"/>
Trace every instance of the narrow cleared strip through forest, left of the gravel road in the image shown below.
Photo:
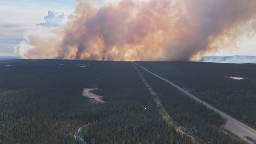
<path fill-rule="evenodd" d="M 180 132 L 186 136 L 188 136 L 189 138 L 191 138 L 193 143 L 196 144 L 205 144 L 204 141 L 202 141 L 200 138 L 198 138 L 196 135 L 194 135 L 193 133 L 191 133 L 189 130 L 187 130 L 186 128 L 184 128 L 183 126 L 181 126 L 179 123 L 177 123 L 174 119 L 172 119 L 170 117 L 170 115 L 166 112 L 166 110 L 164 109 L 162 103 L 160 102 L 159 98 L 156 95 L 156 92 L 153 90 L 153 88 L 147 83 L 147 81 L 145 80 L 145 78 L 142 76 L 142 74 L 140 73 L 140 71 L 138 70 L 138 68 L 136 67 L 136 65 L 134 65 L 134 63 L 132 62 L 133 66 L 135 67 L 137 73 L 140 75 L 143 83 L 146 85 L 146 87 L 148 88 L 148 90 L 150 91 L 153 99 L 155 100 L 156 104 L 157 104 L 157 108 L 159 110 L 159 113 L 161 114 L 161 116 L 163 117 L 163 119 L 167 122 L 167 124 L 172 125 L 173 127 L 176 128 L 177 132 Z"/>

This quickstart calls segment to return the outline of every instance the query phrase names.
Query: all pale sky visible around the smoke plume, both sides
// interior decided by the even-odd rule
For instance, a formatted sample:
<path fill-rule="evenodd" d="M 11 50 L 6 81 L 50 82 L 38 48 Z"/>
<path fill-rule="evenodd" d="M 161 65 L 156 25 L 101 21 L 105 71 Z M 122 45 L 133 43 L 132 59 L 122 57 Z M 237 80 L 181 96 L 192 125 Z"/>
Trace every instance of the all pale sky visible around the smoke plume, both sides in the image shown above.
<path fill-rule="evenodd" d="M 98 2 L 100 8 L 104 0 Z M 0 56 L 17 56 L 14 47 L 29 31 L 60 27 L 76 8 L 73 0 L 0 0 Z M 233 46 L 233 45 L 232 45 Z M 256 36 L 240 36 L 235 48 L 223 47 L 204 56 L 256 55 Z"/>

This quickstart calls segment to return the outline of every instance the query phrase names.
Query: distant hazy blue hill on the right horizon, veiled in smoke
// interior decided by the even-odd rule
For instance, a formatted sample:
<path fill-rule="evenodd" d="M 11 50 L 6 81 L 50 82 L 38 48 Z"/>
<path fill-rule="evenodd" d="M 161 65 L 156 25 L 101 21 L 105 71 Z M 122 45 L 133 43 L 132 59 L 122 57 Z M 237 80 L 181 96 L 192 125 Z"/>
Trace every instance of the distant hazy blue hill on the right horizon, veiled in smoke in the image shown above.
<path fill-rule="evenodd" d="M 202 57 L 200 62 L 217 62 L 217 63 L 256 63 L 256 56 L 214 56 Z"/>

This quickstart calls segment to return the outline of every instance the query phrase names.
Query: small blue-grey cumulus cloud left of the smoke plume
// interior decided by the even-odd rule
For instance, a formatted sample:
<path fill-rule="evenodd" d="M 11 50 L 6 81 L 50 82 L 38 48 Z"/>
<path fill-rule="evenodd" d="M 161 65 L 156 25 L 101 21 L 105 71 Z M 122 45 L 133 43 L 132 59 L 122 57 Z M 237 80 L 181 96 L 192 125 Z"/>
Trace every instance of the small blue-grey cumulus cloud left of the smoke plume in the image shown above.
<path fill-rule="evenodd" d="M 65 14 L 63 12 L 57 12 L 55 10 L 48 11 L 48 15 L 44 16 L 45 22 L 36 24 L 37 26 L 45 26 L 45 27 L 57 27 L 59 23 L 65 18 Z"/>

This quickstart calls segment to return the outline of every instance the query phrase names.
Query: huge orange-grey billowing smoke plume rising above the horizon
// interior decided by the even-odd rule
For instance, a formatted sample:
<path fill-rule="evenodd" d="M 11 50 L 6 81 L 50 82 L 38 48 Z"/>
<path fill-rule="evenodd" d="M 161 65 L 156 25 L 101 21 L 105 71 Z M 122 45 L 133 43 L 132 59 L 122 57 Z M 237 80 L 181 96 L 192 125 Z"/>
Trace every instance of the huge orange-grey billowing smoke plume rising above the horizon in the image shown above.
<path fill-rule="evenodd" d="M 231 47 L 249 26 L 256 0 L 76 0 L 67 26 L 27 33 L 22 58 L 191 60 Z M 242 28 L 241 28 L 242 27 Z M 251 33 L 252 34 L 252 33 Z"/>

